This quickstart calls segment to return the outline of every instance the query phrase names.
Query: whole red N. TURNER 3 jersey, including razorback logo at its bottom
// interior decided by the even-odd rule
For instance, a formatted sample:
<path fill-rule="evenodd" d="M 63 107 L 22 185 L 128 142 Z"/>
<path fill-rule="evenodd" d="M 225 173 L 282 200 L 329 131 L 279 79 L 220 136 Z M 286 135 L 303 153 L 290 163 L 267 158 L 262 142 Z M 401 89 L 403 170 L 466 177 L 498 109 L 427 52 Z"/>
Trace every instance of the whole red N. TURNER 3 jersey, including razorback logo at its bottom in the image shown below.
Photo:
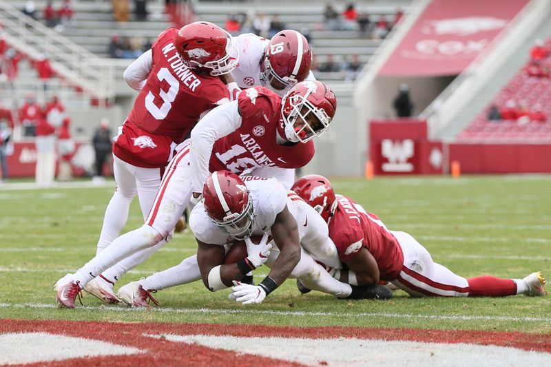
<path fill-rule="evenodd" d="M 218 76 L 183 65 L 174 47 L 177 33 L 168 28 L 152 45 L 152 69 L 115 138 L 113 154 L 137 167 L 165 167 L 200 114 L 229 101 Z"/>

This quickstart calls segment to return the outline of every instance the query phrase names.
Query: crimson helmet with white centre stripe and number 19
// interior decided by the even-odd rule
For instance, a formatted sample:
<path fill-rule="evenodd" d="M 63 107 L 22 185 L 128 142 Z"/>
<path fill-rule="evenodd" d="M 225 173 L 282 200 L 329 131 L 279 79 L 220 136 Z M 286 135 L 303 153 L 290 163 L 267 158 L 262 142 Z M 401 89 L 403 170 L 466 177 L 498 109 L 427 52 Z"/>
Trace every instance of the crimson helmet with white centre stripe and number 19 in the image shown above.
<path fill-rule="evenodd" d="M 312 50 L 306 38 L 295 30 L 282 30 L 273 36 L 260 61 L 260 82 L 283 95 L 310 72 Z"/>

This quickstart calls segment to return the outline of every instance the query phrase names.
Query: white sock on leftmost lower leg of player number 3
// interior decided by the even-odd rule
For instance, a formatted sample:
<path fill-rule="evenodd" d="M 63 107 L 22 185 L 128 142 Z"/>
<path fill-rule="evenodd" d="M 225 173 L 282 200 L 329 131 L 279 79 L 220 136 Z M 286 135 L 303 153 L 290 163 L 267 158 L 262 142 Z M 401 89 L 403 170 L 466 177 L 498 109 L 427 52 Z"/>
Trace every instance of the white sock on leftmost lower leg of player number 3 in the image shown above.
<path fill-rule="evenodd" d="M 128 219 L 131 202 L 132 198 L 125 198 L 118 191 L 113 194 L 103 216 L 103 227 L 101 227 L 96 255 L 101 253 L 121 234 Z"/>

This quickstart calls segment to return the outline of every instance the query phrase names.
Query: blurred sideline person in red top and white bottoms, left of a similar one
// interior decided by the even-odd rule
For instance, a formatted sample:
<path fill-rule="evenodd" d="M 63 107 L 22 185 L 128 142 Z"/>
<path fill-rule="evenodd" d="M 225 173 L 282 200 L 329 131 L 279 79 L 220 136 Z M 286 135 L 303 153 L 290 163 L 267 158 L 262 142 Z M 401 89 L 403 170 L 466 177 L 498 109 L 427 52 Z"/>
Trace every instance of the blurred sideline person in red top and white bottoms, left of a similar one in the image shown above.
<path fill-rule="evenodd" d="M 56 171 L 56 129 L 41 118 L 37 125 L 37 167 L 35 180 L 39 187 L 49 187 L 54 182 Z"/>

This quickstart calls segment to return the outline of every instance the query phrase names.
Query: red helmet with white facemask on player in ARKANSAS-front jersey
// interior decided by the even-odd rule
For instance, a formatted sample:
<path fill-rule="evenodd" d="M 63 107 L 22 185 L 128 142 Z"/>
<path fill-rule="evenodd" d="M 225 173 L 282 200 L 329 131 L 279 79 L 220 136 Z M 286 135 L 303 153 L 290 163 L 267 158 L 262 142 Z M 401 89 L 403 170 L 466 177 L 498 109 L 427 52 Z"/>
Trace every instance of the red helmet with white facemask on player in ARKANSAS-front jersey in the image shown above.
<path fill-rule="evenodd" d="M 281 103 L 280 133 L 293 143 L 306 143 L 322 135 L 337 110 L 335 94 L 320 81 L 298 83 L 283 96 Z"/>

